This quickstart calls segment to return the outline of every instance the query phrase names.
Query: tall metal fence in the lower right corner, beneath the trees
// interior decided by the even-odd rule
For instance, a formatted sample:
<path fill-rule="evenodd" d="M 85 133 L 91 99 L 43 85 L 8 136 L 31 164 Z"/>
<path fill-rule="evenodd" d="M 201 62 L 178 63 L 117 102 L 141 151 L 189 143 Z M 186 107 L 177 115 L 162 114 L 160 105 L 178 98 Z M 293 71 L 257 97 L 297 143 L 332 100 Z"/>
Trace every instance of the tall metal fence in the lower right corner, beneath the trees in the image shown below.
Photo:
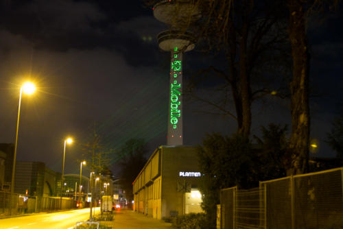
<path fill-rule="evenodd" d="M 343 228 L 343 168 L 221 190 L 220 228 Z"/>

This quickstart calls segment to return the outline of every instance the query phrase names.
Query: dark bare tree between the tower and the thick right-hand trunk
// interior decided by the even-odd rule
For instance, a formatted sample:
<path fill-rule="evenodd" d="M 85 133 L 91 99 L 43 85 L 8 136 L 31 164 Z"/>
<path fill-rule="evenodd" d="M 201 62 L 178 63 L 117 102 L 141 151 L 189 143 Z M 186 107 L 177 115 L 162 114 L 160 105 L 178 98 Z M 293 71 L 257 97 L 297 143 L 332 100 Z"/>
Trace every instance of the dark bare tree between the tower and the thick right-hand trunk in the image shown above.
<path fill-rule="evenodd" d="M 272 85 L 275 75 L 268 79 L 267 75 L 271 75 L 272 69 L 276 70 L 275 66 L 287 64 L 285 10 L 276 8 L 276 3 L 279 1 L 197 1 L 202 19 L 189 27 L 199 28 L 193 31 L 197 32 L 200 46 L 224 53 L 227 62 L 226 69 L 211 66 L 200 70 L 190 87 L 191 95 L 220 111 L 221 115 L 235 119 L 237 132 L 246 137 L 250 135 L 252 102 L 276 93 Z M 285 69 L 282 71 L 287 71 Z M 276 74 L 280 77 L 282 73 Z M 193 93 L 200 82 L 198 75 L 222 78 L 224 83 L 217 90 L 224 96 L 213 101 Z M 234 110 L 226 106 L 230 101 Z"/>

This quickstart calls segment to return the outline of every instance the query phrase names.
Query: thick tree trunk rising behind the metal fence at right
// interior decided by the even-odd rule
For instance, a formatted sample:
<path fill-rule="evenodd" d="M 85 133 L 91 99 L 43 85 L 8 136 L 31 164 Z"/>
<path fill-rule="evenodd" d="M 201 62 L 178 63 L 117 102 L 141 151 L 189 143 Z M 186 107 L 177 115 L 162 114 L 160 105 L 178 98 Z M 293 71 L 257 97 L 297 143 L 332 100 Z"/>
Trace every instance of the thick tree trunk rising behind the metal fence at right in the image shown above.
<path fill-rule="evenodd" d="M 304 8 L 300 0 L 288 0 L 289 39 L 292 45 L 291 89 L 292 134 L 289 140 L 291 164 L 288 174 L 307 172 L 309 160 L 309 53 Z"/>

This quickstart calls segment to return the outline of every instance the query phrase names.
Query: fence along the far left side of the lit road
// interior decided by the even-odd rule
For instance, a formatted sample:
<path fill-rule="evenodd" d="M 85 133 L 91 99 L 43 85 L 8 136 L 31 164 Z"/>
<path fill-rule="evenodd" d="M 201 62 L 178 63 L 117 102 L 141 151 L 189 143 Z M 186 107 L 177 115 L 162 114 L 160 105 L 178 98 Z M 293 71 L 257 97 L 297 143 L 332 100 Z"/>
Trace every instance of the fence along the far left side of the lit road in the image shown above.
<path fill-rule="evenodd" d="M 25 197 L 25 195 L 14 193 L 11 203 L 10 193 L 0 191 L 0 217 L 71 208 L 76 208 L 76 202 L 69 197 L 62 197 L 62 199 L 60 197 Z"/>

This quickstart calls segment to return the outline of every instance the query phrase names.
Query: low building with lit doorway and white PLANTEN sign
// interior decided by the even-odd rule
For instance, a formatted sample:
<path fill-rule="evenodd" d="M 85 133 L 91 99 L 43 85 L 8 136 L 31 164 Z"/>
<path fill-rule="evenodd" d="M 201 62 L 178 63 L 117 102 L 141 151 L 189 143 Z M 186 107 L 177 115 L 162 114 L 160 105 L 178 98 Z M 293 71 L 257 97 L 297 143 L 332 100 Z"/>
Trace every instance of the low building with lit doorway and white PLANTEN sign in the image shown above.
<path fill-rule="evenodd" d="M 196 147 L 158 147 L 134 180 L 133 208 L 155 219 L 200 213 L 200 176 Z"/>

